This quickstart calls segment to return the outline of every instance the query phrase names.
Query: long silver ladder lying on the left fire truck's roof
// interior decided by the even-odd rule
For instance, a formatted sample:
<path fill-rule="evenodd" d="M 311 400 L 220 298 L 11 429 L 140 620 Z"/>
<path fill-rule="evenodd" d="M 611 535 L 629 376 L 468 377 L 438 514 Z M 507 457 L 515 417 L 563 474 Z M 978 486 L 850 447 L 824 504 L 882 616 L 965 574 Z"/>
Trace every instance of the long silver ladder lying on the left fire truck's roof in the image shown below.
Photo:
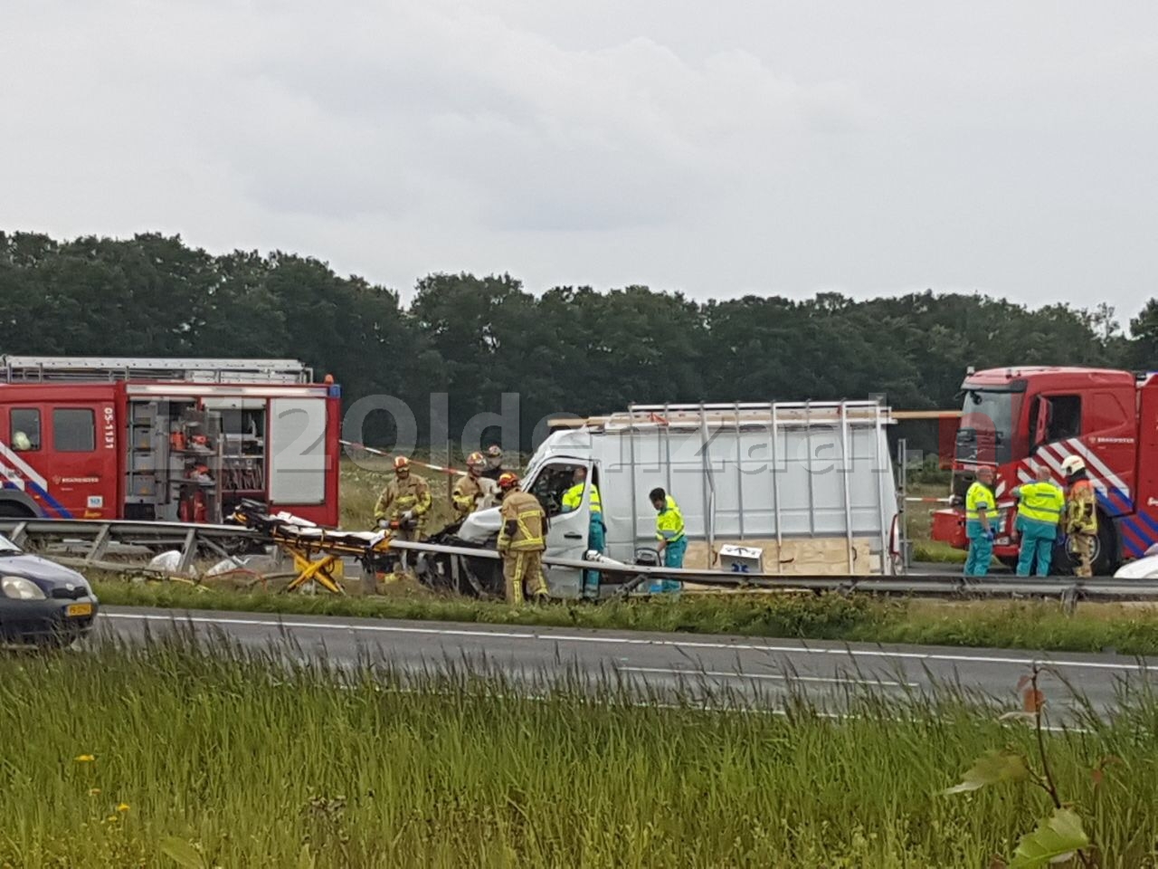
<path fill-rule="evenodd" d="M 109 356 L 3 356 L 9 384 L 166 380 L 198 384 L 310 384 L 313 368 L 296 359 L 205 359 Z"/>

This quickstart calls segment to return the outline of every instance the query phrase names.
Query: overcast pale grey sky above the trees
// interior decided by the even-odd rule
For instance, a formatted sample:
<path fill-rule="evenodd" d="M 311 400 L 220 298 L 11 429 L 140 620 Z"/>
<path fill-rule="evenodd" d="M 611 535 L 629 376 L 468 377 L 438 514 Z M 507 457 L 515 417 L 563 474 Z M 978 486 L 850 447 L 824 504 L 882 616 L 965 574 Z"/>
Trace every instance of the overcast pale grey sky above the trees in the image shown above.
<path fill-rule="evenodd" d="M 0 227 L 1128 316 L 1156 86 L 1153 0 L 3 0 Z"/>

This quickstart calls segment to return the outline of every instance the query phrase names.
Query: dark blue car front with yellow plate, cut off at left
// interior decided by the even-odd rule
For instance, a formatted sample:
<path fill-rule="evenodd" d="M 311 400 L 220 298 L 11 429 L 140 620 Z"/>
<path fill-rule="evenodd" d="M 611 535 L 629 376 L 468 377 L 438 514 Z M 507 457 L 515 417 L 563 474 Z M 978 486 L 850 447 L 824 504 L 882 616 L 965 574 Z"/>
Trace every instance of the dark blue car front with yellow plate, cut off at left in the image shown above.
<path fill-rule="evenodd" d="M 96 609 L 83 576 L 0 534 L 0 642 L 71 645 L 91 630 Z"/>

